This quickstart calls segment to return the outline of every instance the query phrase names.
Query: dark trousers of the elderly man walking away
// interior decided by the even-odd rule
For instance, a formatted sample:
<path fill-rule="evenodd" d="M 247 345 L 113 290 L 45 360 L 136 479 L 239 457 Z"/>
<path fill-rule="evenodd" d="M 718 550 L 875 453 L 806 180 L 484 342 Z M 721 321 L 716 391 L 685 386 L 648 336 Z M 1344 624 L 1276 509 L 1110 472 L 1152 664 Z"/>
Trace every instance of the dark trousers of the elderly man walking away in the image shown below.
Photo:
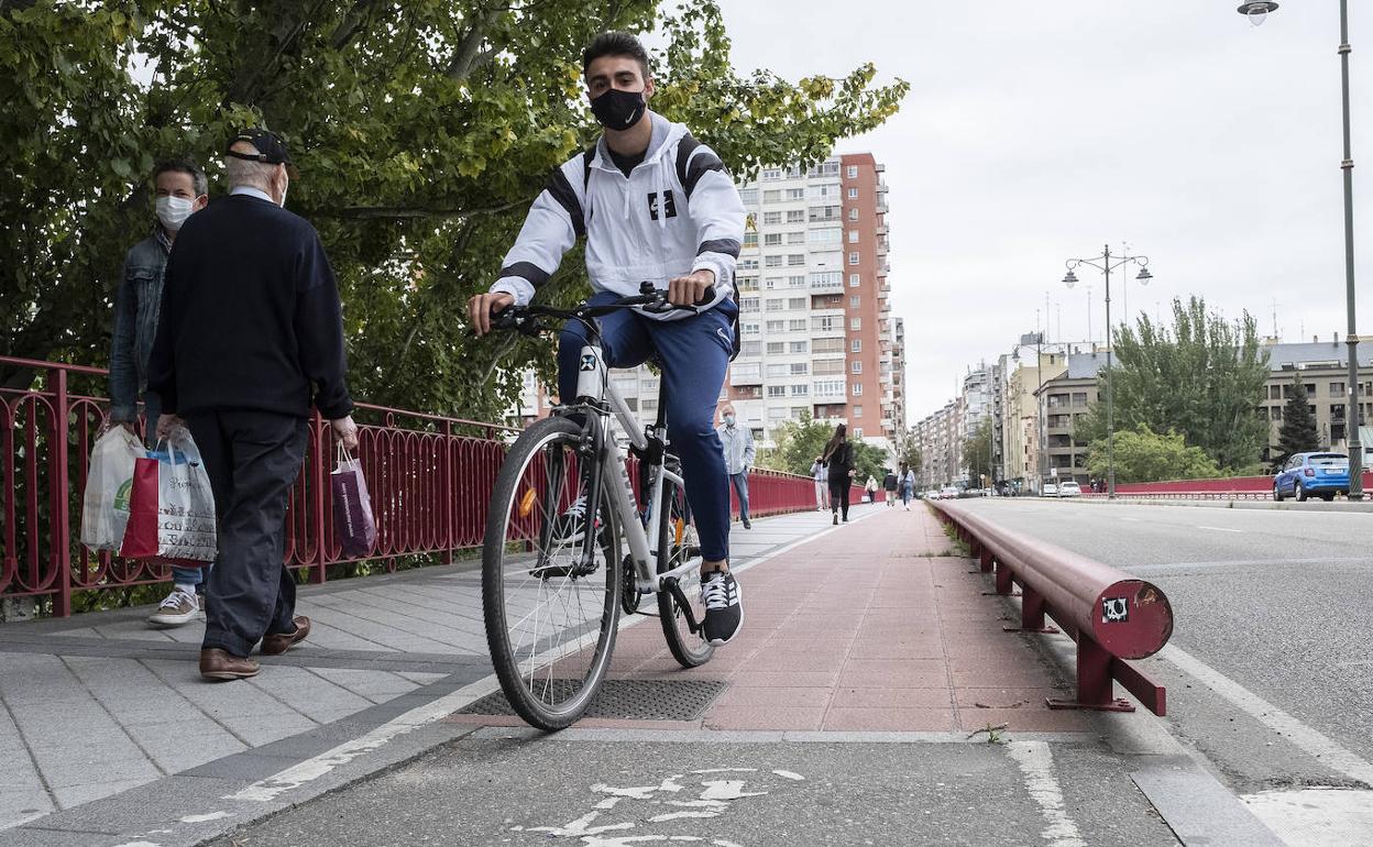
<path fill-rule="evenodd" d="M 295 631 L 295 577 L 283 563 L 286 502 L 305 459 L 306 419 L 210 412 L 185 423 L 218 516 L 202 648 L 247 656 L 262 636 Z"/>

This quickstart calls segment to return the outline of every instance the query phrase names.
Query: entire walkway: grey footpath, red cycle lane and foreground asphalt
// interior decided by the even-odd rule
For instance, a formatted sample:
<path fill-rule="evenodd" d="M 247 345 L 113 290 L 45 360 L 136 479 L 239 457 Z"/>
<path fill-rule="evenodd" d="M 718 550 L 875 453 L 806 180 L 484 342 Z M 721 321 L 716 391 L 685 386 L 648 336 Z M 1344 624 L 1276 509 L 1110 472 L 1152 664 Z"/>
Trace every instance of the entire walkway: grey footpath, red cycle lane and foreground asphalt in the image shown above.
<path fill-rule="evenodd" d="M 732 544 L 740 638 L 684 671 L 656 619 L 627 619 L 596 717 L 552 736 L 489 714 L 471 567 L 303 589 L 310 640 L 225 685 L 198 678 L 198 626 L 147 630 L 147 610 L 5 625 L 0 847 L 1173 843 L 1140 780 L 1195 766 L 1146 715 L 1045 708 L 1061 658 L 1002 631 L 1011 607 L 927 509 L 759 519 Z M 1226 824 L 1237 800 L 1186 788 Z"/>

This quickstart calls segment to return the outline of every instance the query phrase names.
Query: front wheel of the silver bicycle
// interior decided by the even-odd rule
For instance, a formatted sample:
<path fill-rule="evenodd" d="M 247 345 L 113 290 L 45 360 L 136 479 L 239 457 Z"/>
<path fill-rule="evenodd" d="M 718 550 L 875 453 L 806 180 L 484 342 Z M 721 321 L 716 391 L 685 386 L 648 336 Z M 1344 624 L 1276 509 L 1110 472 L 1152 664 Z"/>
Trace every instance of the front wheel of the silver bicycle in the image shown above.
<path fill-rule="evenodd" d="M 533 726 L 557 730 L 590 706 L 619 622 L 619 523 L 601 486 L 588 508 L 592 460 L 581 427 L 529 427 L 496 478 L 482 550 L 486 642 L 501 691 Z"/>

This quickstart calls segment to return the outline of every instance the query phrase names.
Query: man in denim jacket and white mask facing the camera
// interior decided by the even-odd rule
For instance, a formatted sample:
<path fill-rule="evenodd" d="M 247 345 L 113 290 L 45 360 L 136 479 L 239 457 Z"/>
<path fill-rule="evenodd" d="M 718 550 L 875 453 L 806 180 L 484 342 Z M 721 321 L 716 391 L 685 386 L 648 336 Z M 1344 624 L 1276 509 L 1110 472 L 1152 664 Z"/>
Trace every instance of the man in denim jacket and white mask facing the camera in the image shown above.
<path fill-rule="evenodd" d="M 157 446 L 162 402 L 148 390 L 148 358 L 158 332 L 168 255 L 181 225 L 210 202 L 210 184 L 199 165 L 168 159 L 152 169 L 155 222 L 124 258 L 114 295 L 114 335 L 110 339 L 110 423 L 135 432 L 143 397 L 143 439 Z M 151 626 L 183 626 L 205 618 L 205 568 L 172 567 L 172 592 L 148 616 Z"/>

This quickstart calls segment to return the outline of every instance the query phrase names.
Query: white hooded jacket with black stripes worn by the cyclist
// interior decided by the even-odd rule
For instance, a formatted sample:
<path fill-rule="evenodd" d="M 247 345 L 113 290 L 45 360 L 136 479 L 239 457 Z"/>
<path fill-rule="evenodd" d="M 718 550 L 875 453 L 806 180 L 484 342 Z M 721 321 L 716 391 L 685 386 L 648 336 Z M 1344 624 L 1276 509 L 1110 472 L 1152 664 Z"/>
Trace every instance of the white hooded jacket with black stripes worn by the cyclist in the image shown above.
<path fill-rule="evenodd" d="M 744 203 L 719 156 L 662 115 L 649 113 L 654 135 L 629 177 L 610 158 L 604 136 L 549 177 L 505 255 L 492 292 L 526 305 L 557 270 L 563 254 L 586 236 L 586 272 L 595 291 L 638 294 L 640 283 L 667 281 L 695 270 L 715 273 L 718 305 L 735 292 L 735 261 L 744 237 Z M 660 214 L 660 211 L 665 211 Z M 648 314 L 678 320 L 691 312 Z"/>

